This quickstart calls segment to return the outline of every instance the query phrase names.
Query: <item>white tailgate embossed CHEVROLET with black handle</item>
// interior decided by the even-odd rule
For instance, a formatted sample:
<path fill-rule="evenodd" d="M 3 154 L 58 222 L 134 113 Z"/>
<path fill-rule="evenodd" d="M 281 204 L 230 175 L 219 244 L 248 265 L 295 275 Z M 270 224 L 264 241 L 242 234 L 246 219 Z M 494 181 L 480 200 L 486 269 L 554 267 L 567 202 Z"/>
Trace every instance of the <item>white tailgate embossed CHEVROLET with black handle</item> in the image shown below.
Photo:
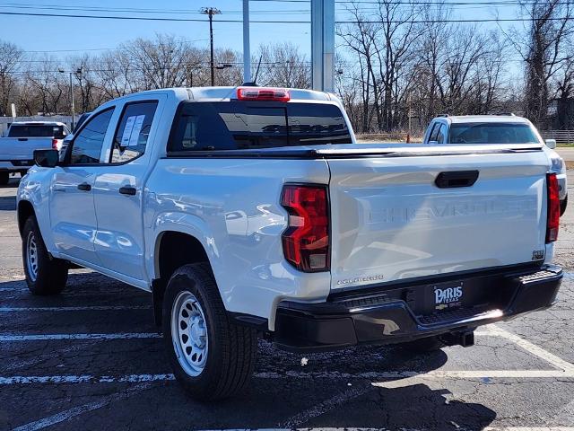
<path fill-rule="evenodd" d="M 544 259 L 543 151 L 340 154 L 328 164 L 333 290 Z M 476 171 L 469 187 L 436 183 Z"/>

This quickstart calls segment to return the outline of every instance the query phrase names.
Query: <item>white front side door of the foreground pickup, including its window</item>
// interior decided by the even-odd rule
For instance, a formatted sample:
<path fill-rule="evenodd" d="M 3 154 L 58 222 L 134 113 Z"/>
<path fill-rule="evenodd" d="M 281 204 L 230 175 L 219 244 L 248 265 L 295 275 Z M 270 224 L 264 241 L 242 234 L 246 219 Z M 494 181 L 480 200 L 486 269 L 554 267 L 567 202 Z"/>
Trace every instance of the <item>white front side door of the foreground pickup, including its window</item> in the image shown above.
<path fill-rule="evenodd" d="M 113 108 L 102 110 L 74 137 L 64 165 L 55 168 L 50 188 L 50 224 L 57 251 L 96 265 L 93 186 L 96 172 L 104 169 L 101 153 L 112 133 L 113 113 Z"/>

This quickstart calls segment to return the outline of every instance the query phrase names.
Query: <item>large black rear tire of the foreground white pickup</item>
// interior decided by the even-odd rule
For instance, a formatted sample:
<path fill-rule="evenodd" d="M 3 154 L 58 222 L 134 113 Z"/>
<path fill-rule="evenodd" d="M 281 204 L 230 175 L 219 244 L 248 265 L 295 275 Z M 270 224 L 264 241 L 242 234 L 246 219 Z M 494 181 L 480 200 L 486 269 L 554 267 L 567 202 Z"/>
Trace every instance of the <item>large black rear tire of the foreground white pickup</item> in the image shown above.
<path fill-rule="evenodd" d="M 172 338 L 172 310 L 178 316 L 178 323 L 174 325 L 180 326 L 181 320 L 186 319 L 187 315 L 185 310 L 182 313 L 178 311 L 181 310 L 178 298 L 185 297 L 188 293 L 195 296 L 196 302 L 201 306 L 204 317 L 202 328 L 205 328 L 207 334 L 206 359 L 203 369 L 197 375 L 187 373 L 181 365 L 178 352 L 183 353 L 184 347 L 178 344 L 178 334 Z M 192 334 L 194 323 L 191 317 L 187 321 L 188 339 L 195 337 Z M 185 321 L 182 328 L 182 331 L 187 329 Z M 228 319 L 209 265 L 184 265 L 171 276 L 163 299 L 162 330 L 176 379 L 192 398 L 200 401 L 221 400 L 245 388 L 256 362 L 257 331 L 239 326 Z M 189 351 L 192 351 L 191 348 Z M 180 356 L 185 363 L 185 353 Z M 187 353 L 187 356 L 190 354 Z"/>

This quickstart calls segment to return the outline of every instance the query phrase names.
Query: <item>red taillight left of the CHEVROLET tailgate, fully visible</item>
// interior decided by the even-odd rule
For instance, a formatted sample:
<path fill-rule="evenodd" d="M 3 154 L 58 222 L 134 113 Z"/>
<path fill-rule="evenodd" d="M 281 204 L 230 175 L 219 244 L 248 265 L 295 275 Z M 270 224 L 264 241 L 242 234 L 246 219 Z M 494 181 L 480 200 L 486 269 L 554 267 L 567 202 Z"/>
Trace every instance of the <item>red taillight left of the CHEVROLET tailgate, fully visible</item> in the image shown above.
<path fill-rule="evenodd" d="M 300 271 L 329 269 L 329 206 L 326 186 L 286 185 L 281 205 L 289 213 L 283 254 Z"/>

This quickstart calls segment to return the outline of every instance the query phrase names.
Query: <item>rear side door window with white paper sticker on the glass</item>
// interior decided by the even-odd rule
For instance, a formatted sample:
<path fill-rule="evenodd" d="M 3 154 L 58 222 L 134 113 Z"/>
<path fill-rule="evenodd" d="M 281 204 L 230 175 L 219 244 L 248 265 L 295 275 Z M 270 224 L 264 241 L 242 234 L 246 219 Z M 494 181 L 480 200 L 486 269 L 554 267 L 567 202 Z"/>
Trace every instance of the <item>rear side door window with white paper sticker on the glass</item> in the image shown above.
<path fill-rule="evenodd" d="M 126 104 L 111 151 L 110 163 L 126 163 L 145 153 L 157 101 Z"/>

